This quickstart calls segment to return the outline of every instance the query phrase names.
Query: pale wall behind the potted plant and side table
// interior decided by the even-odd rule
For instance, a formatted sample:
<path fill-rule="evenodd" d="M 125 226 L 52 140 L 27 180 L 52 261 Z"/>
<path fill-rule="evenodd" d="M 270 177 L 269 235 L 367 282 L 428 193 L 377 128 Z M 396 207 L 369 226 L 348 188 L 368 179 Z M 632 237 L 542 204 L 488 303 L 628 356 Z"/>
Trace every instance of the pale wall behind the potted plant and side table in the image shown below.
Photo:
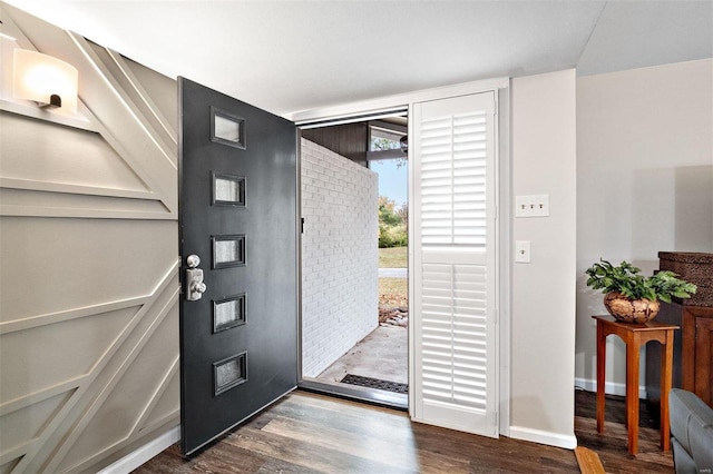
<path fill-rule="evenodd" d="M 594 389 L 590 316 L 606 310 L 584 270 L 602 257 L 651 275 L 660 250 L 713 251 L 713 60 L 577 80 L 577 201 L 576 377 Z M 607 340 L 623 395 L 624 344 Z"/>

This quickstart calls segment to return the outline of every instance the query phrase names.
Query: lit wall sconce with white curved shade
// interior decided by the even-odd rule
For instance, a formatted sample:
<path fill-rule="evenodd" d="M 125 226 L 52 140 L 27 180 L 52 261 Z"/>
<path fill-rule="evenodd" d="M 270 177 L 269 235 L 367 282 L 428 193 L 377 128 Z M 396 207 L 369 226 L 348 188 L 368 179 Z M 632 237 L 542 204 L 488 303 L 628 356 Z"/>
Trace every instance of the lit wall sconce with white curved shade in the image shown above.
<path fill-rule="evenodd" d="M 14 49 L 12 96 L 40 107 L 77 111 L 77 68 L 41 52 Z"/>

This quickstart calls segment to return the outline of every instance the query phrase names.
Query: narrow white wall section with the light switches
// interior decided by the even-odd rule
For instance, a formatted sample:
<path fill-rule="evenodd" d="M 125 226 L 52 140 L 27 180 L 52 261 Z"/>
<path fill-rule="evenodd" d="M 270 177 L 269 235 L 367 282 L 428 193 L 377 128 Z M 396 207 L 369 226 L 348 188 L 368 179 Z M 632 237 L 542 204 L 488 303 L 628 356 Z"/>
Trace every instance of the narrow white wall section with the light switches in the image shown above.
<path fill-rule="evenodd" d="M 574 447 L 575 71 L 511 87 L 512 194 L 549 195 L 550 215 L 514 218 L 531 263 L 512 264 L 510 436 Z"/>

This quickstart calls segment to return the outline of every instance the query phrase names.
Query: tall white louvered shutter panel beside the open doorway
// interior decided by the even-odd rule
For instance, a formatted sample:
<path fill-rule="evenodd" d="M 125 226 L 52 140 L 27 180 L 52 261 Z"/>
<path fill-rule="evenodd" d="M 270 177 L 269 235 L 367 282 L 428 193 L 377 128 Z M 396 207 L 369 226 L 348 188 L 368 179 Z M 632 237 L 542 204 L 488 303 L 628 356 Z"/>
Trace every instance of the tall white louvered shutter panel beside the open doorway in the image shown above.
<path fill-rule="evenodd" d="M 497 436 L 495 93 L 413 108 L 417 421 Z"/>

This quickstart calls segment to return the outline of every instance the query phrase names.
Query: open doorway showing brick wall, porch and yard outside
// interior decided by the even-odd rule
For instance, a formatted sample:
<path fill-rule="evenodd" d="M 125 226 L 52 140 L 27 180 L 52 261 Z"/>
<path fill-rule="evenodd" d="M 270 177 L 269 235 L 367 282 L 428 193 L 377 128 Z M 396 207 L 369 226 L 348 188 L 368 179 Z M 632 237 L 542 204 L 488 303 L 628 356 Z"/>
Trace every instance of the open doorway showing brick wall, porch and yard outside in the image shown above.
<path fill-rule="evenodd" d="M 408 116 L 302 130 L 301 387 L 408 407 Z"/>

